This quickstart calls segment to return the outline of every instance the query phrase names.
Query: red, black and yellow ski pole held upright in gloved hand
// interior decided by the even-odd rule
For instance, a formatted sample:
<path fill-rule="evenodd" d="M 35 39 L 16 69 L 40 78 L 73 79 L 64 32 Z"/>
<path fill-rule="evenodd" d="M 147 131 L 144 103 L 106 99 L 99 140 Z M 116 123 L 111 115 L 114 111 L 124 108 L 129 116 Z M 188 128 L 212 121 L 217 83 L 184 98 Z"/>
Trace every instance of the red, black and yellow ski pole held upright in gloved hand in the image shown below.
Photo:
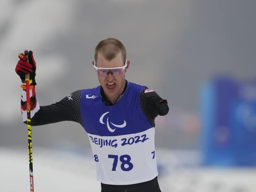
<path fill-rule="evenodd" d="M 28 58 L 28 50 L 24 51 L 24 55 Z M 29 89 L 29 73 L 25 74 L 26 80 L 26 96 L 27 96 L 27 137 L 29 139 L 29 172 L 30 172 L 30 192 L 34 192 L 34 179 L 33 179 L 33 156 L 32 156 L 32 135 L 31 135 L 31 118 L 30 118 L 30 89 Z"/>

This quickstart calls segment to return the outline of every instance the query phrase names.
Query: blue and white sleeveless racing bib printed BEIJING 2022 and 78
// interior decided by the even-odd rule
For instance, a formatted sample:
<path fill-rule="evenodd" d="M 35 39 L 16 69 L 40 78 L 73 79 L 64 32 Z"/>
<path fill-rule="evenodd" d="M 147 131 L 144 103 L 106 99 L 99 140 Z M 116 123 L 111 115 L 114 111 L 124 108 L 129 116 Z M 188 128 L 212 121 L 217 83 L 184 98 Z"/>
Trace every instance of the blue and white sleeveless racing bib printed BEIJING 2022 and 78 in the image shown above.
<path fill-rule="evenodd" d="M 139 103 L 144 88 L 129 82 L 123 98 L 113 106 L 102 102 L 100 86 L 82 91 L 82 123 L 97 166 L 97 180 L 102 183 L 129 185 L 158 175 L 155 128 Z"/>

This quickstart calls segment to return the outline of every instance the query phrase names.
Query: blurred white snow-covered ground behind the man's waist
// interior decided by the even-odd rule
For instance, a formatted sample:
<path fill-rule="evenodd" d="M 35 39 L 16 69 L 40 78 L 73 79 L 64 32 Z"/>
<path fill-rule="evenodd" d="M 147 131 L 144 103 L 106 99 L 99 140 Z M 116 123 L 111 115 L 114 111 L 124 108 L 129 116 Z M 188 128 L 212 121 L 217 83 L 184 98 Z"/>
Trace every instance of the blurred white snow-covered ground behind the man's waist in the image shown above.
<path fill-rule="evenodd" d="M 197 151 L 156 150 L 163 192 L 254 192 L 255 168 L 201 167 Z M 28 191 L 28 151 L 0 147 L 0 191 Z M 101 191 L 91 149 L 33 148 L 34 190 Z"/>

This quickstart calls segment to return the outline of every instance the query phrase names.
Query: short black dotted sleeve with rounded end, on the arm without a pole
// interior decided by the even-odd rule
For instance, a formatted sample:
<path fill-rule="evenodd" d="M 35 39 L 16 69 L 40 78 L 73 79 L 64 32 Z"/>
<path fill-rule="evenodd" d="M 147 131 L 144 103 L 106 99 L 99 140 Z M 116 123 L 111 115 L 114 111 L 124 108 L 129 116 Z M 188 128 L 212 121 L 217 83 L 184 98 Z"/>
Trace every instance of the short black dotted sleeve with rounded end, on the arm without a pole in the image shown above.
<path fill-rule="evenodd" d="M 139 94 L 141 109 L 150 124 L 155 127 L 157 115 L 166 115 L 169 111 L 167 100 L 163 100 L 159 95 L 145 87 Z"/>

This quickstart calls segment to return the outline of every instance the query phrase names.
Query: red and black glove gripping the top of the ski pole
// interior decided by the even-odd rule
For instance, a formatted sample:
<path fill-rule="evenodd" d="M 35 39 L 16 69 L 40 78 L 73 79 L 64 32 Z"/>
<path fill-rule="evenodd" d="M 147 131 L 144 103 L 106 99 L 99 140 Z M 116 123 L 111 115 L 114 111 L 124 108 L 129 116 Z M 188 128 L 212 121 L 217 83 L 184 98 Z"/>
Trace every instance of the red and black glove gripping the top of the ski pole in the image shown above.
<path fill-rule="evenodd" d="M 26 55 L 27 50 L 24 51 Z M 25 83 L 25 74 L 29 73 L 30 77 L 30 84 L 36 85 L 35 82 L 35 70 L 37 68 L 34 57 L 33 57 L 33 51 L 29 51 L 27 54 L 27 57 L 24 54 L 20 53 L 18 56 L 20 60 L 18 61 L 15 71 L 21 78 L 22 83 Z"/>

